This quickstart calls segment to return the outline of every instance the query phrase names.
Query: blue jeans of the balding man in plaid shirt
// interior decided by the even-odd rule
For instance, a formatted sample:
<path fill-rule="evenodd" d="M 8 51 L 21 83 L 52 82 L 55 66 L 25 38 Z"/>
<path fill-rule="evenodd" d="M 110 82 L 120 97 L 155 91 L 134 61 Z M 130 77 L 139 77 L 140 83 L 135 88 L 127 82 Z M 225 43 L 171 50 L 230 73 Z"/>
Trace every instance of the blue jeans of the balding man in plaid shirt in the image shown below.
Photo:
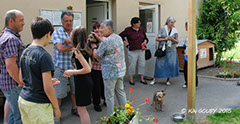
<path fill-rule="evenodd" d="M 22 124 L 21 114 L 18 108 L 18 97 L 22 87 L 15 87 L 8 91 L 3 91 L 4 96 L 10 104 L 10 114 L 8 124 Z"/>

